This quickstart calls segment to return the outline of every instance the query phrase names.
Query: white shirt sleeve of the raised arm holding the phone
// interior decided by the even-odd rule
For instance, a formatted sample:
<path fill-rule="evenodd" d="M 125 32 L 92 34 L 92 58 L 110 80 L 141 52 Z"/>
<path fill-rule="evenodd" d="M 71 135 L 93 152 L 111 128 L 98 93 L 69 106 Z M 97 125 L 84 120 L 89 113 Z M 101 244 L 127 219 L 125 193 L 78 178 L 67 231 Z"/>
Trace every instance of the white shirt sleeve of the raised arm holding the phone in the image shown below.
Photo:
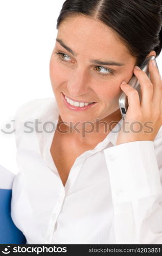
<path fill-rule="evenodd" d="M 113 244 L 162 244 L 161 140 L 156 151 L 153 141 L 104 150 L 114 207 Z"/>

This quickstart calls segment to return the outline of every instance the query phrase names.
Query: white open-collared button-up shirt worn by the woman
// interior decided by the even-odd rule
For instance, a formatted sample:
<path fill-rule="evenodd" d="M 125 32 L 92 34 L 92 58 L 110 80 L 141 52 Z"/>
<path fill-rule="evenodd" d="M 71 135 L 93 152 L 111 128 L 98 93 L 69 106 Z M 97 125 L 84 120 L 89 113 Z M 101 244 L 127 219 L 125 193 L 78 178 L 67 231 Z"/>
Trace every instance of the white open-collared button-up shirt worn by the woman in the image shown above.
<path fill-rule="evenodd" d="M 15 115 L 20 172 L 11 214 L 27 243 L 161 244 L 162 129 L 154 142 L 115 145 L 116 125 L 77 157 L 64 187 L 50 153 L 58 118 L 55 98 L 30 101 Z M 26 121 L 34 132 L 25 132 Z"/>

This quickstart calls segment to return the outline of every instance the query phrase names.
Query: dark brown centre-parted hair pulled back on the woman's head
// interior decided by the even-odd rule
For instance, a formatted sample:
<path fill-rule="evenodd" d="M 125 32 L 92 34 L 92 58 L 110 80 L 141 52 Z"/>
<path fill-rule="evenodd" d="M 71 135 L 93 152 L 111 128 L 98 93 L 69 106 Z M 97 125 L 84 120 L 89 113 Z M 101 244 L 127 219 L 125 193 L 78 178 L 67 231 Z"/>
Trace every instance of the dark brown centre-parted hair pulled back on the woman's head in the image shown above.
<path fill-rule="evenodd" d="M 162 0 L 66 0 L 57 19 L 75 15 L 99 19 L 118 36 L 141 65 L 150 51 L 162 48 Z"/>

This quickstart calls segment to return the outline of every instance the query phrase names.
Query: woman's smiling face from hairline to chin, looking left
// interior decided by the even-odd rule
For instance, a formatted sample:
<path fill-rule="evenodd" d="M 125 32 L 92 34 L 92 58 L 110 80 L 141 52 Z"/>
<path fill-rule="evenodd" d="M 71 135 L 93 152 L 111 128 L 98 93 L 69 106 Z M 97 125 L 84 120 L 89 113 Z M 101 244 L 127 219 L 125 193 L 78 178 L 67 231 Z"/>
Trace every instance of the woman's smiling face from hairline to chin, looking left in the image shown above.
<path fill-rule="evenodd" d="M 99 20 L 84 16 L 64 20 L 50 60 L 50 78 L 62 121 L 68 125 L 70 121 L 121 119 L 120 84 L 130 80 L 135 62 L 117 34 Z M 96 103 L 77 108 L 66 103 L 64 95 Z"/>

